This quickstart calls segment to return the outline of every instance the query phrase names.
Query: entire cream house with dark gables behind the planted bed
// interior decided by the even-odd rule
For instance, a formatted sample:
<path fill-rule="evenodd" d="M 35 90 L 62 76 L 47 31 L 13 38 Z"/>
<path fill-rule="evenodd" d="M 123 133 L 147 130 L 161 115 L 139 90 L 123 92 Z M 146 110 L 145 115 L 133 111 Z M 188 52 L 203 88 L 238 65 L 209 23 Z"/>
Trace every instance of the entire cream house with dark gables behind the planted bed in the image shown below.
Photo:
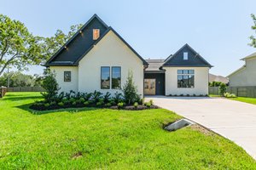
<path fill-rule="evenodd" d="M 121 92 L 132 71 L 141 95 L 208 94 L 212 67 L 188 44 L 167 59 L 145 60 L 96 14 L 45 66 L 64 92 Z"/>

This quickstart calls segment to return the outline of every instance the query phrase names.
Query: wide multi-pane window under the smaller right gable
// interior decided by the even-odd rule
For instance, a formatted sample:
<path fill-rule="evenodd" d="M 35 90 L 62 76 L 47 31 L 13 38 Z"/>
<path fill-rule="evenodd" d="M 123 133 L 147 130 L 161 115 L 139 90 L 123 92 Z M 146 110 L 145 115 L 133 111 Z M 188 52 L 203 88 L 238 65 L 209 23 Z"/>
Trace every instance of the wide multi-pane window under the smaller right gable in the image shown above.
<path fill-rule="evenodd" d="M 177 88 L 195 88 L 195 71 L 177 70 Z"/>

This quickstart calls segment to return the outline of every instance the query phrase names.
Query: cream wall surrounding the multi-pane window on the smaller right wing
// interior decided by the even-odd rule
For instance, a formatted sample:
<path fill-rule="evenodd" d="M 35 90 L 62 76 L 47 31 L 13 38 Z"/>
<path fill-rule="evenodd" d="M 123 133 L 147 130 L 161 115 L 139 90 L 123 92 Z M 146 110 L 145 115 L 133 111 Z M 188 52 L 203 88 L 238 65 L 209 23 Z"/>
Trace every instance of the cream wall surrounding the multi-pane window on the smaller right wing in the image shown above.
<path fill-rule="evenodd" d="M 166 70 L 166 95 L 208 94 L 208 67 L 164 67 Z M 177 70 L 195 71 L 195 88 L 177 88 Z"/>

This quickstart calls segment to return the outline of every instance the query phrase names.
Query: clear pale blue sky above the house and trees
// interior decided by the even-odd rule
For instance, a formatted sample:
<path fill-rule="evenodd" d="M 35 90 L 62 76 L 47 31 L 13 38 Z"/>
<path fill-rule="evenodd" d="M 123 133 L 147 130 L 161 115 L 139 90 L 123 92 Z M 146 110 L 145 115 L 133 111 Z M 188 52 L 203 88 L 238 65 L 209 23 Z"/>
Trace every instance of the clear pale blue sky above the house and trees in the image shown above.
<path fill-rule="evenodd" d="M 144 59 L 166 59 L 188 43 L 214 65 L 212 74 L 228 76 L 240 59 L 256 52 L 250 42 L 255 0 L 0 0 L 0 13 L 20 20 L 33 33 L 50 37 L 67 32 L 98 14 Z M 30 66 L 29 74 L 43 67 Z"/>

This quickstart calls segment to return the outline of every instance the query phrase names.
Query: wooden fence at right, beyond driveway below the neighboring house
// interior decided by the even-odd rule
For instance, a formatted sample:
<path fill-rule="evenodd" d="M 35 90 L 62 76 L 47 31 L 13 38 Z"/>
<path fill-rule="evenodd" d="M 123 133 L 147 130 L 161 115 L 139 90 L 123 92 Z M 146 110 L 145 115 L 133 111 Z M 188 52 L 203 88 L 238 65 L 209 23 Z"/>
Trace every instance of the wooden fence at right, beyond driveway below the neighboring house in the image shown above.
<path fill-rule="evenodd" d="M 256 98 L 256 86 L 227 87 L 227 92 L 240 97 Z M 209 94 L 218 95 L 218 87 L 209 87 Z"/>

